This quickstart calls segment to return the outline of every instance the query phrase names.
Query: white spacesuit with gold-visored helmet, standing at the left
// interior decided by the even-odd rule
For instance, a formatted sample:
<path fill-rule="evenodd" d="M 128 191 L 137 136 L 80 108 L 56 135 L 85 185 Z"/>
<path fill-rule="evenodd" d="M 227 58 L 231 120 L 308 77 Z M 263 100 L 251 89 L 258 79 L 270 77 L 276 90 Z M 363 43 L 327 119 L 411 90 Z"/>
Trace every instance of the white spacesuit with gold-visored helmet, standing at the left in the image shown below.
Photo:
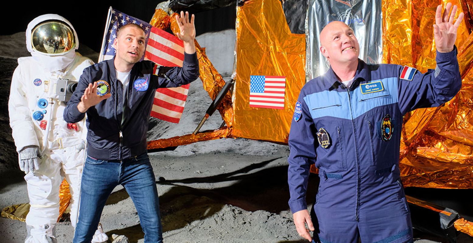
<path fill-rule="evenodd" d="M 76 225 L 85 152 L 82 132 L 87 129 L 84 121 L 68 124 L 62 113 L 66 91 L 73 88 L 70 81 L 79 80 L 83 69 L 94 64 L 75 52 L 78 47 L 76 31 L 67 19 L 55 14 L 36 17 L 26 29 L 26 48 L 32 56 L 18 58 L 13 73 L 10 126 L 31 205 L 25 243 L 56 242 L 59 187 L 64 177 L 70 185 L 70 219 Z M 93 242 L 107 239 L 100 229 Z"/>

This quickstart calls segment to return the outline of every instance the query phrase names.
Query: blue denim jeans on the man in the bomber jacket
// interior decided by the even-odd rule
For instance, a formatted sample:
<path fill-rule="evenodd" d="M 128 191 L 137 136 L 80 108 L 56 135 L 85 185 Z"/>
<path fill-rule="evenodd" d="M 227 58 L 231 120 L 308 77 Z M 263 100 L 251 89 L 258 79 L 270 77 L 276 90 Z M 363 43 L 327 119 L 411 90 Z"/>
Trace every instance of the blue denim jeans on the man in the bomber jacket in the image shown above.
<path fill-rule="evenodd" d="M 105 202 L 121 184 L 135 204 L 145 233 L 145 243 L 162 243 L 158 191 L 147 153 L 120 160 L 99 160 L 87 156 L 80 187 L 79 222 L 74 243 L 90 243 Z"/>

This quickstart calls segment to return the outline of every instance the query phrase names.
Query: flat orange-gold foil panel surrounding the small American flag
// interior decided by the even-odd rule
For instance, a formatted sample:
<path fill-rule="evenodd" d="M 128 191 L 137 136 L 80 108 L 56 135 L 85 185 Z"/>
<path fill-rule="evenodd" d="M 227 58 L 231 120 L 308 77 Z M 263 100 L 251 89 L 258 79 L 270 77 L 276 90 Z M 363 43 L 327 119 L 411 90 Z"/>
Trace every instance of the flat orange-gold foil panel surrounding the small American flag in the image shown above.
<path fill-rule="evenodd" d="M 306 39 L 291 34 L 280 1 L 248 0 L 236 12 L 235 137 L 287 143 L 305 84 Z M 284 109 L 249 106 L 250 76 L 285 76 Z"/>

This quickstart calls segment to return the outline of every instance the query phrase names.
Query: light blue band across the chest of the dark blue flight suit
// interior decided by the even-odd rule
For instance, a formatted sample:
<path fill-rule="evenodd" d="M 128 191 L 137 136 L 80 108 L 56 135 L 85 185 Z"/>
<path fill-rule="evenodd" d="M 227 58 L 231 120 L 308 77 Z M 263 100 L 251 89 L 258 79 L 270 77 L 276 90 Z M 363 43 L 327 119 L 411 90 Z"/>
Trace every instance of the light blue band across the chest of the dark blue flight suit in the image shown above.
<path fill-rule="evenodd" d="M 378 106 L 398 102 L 397 77 L 373 80 L 370 83 L 379 81 L 383 84 L 383 90 L 379 92 L 362 94 L 360 87 L 357 87 L 350 91 L 349 99 L 348 92 L 324 90 L 306 95 L 304 101 L 309 108 L 312 119 L 330 116 L 350 120 L 352 115 L 355 119 Z M 350 114 L 349 102 L 351 103 L 352 114 Z"/>

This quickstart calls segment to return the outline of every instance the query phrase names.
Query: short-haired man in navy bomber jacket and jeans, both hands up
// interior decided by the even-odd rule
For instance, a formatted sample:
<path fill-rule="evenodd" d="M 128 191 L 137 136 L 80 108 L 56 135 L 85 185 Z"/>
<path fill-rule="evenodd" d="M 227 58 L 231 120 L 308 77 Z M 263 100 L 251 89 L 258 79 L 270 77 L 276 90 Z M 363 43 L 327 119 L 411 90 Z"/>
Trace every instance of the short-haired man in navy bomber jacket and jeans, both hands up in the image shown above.
<path fill-rule="evenodd" d="M 145 243 L 162 243 L 159 200 L 146 151 L 146 132 L 158 87 L 177 87 L 199 77 L 195 52 L 194 16 L 176 16 L 184 42 L 182 68 L 160 70 L 140 61 L 145 33 L 136 24 L 122 26 L 114 40 L 116 54 L 87 69 L 64 111 L 64 120 L 77 122 L 87 113 L 88 148 L 81 183 L 79 222 L 74 243 L 89 243 L 105 201 L 118 184 L 130 194 L 145 233 Z M 98 89 L 98 91 L 97 91 Z"/>

